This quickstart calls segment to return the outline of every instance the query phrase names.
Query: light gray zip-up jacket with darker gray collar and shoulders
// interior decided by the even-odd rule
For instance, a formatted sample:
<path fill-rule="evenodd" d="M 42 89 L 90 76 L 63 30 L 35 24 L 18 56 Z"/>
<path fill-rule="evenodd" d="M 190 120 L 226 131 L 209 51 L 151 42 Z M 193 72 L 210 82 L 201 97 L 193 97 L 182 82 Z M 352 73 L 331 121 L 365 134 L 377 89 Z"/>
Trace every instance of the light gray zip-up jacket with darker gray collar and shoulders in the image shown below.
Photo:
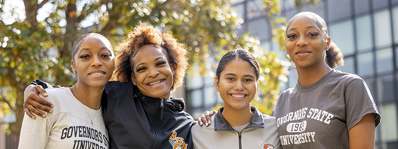
<path fill-rule="evenodd" d="M 211 117 L 213 123 L 208 127 L 192 127 L 194 149 L 282 149 L 275 117 L 251 106 L 255 112 L 253 118 L 239 133 L 222 117 L 223 109 L 218 109 L 218 113 Z"/>

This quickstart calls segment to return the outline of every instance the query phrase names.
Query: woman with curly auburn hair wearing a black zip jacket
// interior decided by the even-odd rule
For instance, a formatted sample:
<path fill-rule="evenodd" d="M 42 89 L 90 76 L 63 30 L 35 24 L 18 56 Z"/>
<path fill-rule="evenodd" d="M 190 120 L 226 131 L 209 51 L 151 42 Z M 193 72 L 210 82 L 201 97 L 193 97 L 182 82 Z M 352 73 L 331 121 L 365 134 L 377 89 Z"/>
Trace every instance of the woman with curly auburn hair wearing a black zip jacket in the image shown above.
<path fill-rule="evenodd" d="M 188 68 L 185 48 L 172 35 L 141 22 L 121 43 L 114 73 L 118 81 L 106 83 L 101 102 L 111 148 L 193 148 L 190 129 L 194 119 L 183 111 L 183 99 L 170 96 L 182 85 Z M 49 108 L 36 102 L 42 100 L 35 88 L 40 87 L 25 89 L 25 111 L 43 115 L 35 107 Z"/>

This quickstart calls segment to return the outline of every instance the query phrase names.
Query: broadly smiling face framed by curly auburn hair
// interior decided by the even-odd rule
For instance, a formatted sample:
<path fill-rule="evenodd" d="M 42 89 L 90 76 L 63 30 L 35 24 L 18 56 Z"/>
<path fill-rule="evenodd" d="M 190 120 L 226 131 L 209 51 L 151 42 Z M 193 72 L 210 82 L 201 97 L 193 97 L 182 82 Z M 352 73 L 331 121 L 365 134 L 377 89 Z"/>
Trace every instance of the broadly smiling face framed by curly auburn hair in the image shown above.
<path fill-rule="evenodd" d="M 131 80 L 142 94 L 170 99 L 173 85 L 173 68 L 169 65 L 162 47 L 146 45 L 132 58 Z"/>

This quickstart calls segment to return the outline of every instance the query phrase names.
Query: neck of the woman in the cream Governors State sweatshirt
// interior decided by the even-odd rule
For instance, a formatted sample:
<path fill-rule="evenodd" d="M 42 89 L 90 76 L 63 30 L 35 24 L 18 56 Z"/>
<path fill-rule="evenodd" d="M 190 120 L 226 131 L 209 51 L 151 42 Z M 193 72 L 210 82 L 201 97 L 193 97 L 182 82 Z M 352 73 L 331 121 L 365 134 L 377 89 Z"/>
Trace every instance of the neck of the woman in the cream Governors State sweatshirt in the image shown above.
<path fill-rule="evenodd" d="M 102 91 L 105 86 L 91 87 L 76 83 L 72 87 L 69 88 L 71 89 L 76 99 L 80 99 L 80 102 L 82 102 L 84 105 L 88 106 L 91 109 L 100 109 Z"/>

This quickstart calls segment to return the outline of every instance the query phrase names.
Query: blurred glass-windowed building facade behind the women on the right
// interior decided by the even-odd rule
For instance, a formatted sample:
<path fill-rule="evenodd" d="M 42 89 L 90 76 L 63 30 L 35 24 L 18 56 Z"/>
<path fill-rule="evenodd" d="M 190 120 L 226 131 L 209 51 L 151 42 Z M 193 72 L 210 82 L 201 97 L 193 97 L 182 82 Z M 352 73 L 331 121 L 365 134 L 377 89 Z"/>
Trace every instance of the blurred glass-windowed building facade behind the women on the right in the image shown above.
<path fill-rule="evenodd" d="M 281 1 L 281 16 L 288 19 L 301 11 L 311 11 L 323 17 L 329 36 L 344 54 L 344 66 L 337 70 L 358 74 L 365 79 L 382 115 L 376 128 L 376 149 L 398 147 L 398 0 L 321 0 L 297 9 L 293 0 Z M 238 30 L 258 37 L 265 50 L 281 53 L 271 40 L 272 29 L 261 12 L 261 0 L 234 0 L 232 5 L 245 22 Z M 297 72 L 290 68 L 289 81 L 282 90 L 297 83 Z M 187 111 L 199 116 L 217 103 L 222 103 L 214 78 L 187 77 Z"/>

